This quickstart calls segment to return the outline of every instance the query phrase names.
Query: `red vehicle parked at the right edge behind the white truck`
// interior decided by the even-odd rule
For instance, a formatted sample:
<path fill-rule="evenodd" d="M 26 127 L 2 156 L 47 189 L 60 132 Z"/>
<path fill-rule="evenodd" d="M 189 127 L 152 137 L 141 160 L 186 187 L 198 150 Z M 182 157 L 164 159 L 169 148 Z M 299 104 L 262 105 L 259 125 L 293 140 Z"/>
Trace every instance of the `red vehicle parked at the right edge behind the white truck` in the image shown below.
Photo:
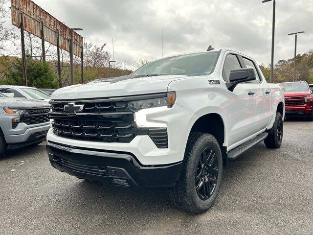
<path fill-rule="evenodd" d="M 283 82 L 286 117 L 307 117 L 313 121 L 313 94 L 306 82 Z"/>

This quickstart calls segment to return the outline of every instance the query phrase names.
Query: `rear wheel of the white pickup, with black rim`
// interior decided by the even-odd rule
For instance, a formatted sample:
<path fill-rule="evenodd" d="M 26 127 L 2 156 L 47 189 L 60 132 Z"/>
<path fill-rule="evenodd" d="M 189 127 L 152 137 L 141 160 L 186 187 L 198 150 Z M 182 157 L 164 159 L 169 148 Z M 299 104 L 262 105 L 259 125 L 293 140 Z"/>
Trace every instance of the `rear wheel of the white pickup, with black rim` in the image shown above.
<path fill-rule="evenodd" d="M 268 148 L 279 148 L 283 141 L 284 125 L 283 118 L 280 113 L 276 113 L 274 125 L 268 131 L 268 137 L 264 140 Z"/>

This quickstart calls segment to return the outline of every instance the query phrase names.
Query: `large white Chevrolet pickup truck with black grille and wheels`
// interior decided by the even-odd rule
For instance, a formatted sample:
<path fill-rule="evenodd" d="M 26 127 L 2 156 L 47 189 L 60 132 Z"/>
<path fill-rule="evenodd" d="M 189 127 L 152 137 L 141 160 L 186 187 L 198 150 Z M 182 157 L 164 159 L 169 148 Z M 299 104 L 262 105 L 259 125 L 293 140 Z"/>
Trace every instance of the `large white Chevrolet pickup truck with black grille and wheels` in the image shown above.
<path fill-rule="evenodd" d="M 215 201 L 223 166 L 255 144 L 280 147 L 284 89 L 232 50 L 171 56 L 131 75 L 51 95 L 50 163 L 80 179 L 167 187 L 200 213 Z"/>

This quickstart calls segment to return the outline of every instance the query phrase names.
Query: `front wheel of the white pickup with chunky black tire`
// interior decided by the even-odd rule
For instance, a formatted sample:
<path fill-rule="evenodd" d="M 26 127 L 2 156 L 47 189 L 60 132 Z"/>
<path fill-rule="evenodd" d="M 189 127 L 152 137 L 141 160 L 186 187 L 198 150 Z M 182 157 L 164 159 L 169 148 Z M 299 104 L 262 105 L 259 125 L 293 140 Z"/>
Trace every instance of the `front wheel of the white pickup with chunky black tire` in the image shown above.
<path fill-rule="evenodd" d="M 215 202 L 222 174 L 223 158 L 218 141 L 211 134 L 192 133 L 180 179 L 170 191 L 172 203 L 193 213 L 207 211 Z"/>

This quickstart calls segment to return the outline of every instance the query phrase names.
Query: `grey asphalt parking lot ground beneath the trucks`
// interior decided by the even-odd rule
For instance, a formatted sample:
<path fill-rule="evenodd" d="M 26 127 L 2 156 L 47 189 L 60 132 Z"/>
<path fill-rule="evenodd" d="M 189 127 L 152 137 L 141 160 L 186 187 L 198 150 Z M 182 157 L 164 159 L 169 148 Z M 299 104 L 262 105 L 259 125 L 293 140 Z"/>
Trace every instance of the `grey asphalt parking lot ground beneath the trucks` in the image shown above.
<path fill-rule="evenodd" d="M 0 234 L 313 234 L 313 122 L 284 128 L 280 149 L 261 143 L 224 168 L 216 203 L 199 215 L 174 208 L 165 189 L 61 173 L 45 142 L 10 152 L 0 160 Z"/>

